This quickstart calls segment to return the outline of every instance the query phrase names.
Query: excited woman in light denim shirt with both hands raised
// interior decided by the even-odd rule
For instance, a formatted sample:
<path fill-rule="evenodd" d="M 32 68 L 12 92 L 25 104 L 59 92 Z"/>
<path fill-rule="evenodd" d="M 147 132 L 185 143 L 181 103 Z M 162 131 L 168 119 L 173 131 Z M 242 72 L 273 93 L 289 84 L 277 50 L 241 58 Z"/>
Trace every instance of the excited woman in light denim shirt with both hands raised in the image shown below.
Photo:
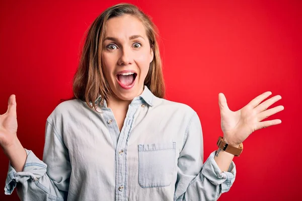
<path fill-rule="evenodd" d="M 47 118 L 42 161 L 17 138 L 10 96 L 0 117 L 6 194 L 18 183 L 22 200 L 216 200 L 235 180 L 242 142 L 281 123 L 260 121 L 284 109 L 266 110 L 281 98 L 261 103 L 268 91 L 233 112 L 219 93 L 223 139 L 203 163 L 198 115 L 163 98 L 155 26 L 130 4 L 108 8 L 91 25 L 73 91 Z"/>

